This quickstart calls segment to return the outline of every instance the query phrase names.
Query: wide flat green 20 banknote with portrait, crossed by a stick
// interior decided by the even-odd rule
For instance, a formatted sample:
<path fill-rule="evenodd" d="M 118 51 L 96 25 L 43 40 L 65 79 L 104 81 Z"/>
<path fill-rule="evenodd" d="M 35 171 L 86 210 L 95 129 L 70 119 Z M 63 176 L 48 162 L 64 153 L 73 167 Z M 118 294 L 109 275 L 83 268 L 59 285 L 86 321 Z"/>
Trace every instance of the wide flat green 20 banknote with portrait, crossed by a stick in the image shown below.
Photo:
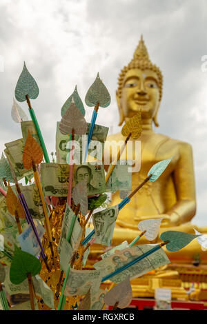
<path fill-rule="evenodd" d="M 105 192 L 103 165 L 73 165 L 72 188 L 86 179 L 88 196 Z M 41 163 L 41 185 L 46 196 L 68 196 L 69 165 Z"/>

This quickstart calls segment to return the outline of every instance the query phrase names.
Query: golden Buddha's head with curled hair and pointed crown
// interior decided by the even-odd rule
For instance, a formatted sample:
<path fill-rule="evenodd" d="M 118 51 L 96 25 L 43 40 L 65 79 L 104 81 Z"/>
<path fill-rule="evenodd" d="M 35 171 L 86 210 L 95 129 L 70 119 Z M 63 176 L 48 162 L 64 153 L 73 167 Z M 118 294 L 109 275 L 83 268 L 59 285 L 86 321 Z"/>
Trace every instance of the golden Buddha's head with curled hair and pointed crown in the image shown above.
<path fill-rule="evenodd" d="M 159 68 L 148 57 L 146 45 L 141 37 L 134 57 L 119 74 L 117 103 L 119 125 L 141 110 L 141 119 L 152 119 L 157 123 L 157 112 L 161 102 L 162 75 Z"/>

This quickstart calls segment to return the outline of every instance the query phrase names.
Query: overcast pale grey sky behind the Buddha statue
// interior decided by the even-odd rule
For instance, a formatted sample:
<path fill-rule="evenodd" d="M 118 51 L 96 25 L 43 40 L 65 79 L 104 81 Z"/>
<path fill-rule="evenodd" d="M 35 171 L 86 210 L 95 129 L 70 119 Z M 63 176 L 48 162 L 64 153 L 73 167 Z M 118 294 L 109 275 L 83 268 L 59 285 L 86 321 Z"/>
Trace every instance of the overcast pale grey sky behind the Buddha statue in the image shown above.
<path fill-rule="evenodd" d="M 117 132 L 117 77 L 144 35 L 150 59 L 164 74 L 156 132 L 193 145 L 197 215 L 207 225 L 207 3 L 205 0 L 1 0 L 0 150 L 21 138 L 10 117 L 14 89 L 26 61 L 39 85 L 32 101 L 48 152 L 55 151 L 56 121 L 77 84 L 84 99 L 99 71 L 112 103 L 97 123 Z M 21 103 L 28 113 L 26 103 Z M 92 109 L 86 107 L 86 120 Z M 29 116 L 29 114 L 28 114 Z M 111 127 L 113 126 L 113 127 Z"/>

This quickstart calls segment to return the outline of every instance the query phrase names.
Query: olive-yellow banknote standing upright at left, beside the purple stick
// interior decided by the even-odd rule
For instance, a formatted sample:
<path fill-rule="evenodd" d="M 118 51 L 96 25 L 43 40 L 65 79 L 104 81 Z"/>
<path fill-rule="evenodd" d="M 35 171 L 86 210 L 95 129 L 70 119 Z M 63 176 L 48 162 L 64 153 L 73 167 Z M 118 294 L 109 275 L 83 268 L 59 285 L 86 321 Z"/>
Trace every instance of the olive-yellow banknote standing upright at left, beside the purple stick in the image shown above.
<path fill-rule="evenodd" d="M 21 193 L 26 199 L 32 218 L 43 221 L 45 215 L 36 185 L 34 183 L 32 185 L 21 185 Z"/>

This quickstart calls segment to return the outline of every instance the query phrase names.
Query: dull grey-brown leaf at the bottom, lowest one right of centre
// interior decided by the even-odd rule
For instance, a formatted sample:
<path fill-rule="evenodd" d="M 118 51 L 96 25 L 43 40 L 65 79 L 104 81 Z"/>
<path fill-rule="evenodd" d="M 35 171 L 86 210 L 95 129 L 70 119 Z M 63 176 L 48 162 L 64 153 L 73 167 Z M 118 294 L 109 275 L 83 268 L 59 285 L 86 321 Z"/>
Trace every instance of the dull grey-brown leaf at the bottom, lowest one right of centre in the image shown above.
<path fill-rule="evenodd" d="M 115 305 L 118 303 L 119 308 L 125 308 L 130 305 L 132 301 L 132 287 L 130 284 L 130 277 L 128 276 L 124 281 L 121 281 L 104 296 L 104 303 L 106 305 Z"/>

